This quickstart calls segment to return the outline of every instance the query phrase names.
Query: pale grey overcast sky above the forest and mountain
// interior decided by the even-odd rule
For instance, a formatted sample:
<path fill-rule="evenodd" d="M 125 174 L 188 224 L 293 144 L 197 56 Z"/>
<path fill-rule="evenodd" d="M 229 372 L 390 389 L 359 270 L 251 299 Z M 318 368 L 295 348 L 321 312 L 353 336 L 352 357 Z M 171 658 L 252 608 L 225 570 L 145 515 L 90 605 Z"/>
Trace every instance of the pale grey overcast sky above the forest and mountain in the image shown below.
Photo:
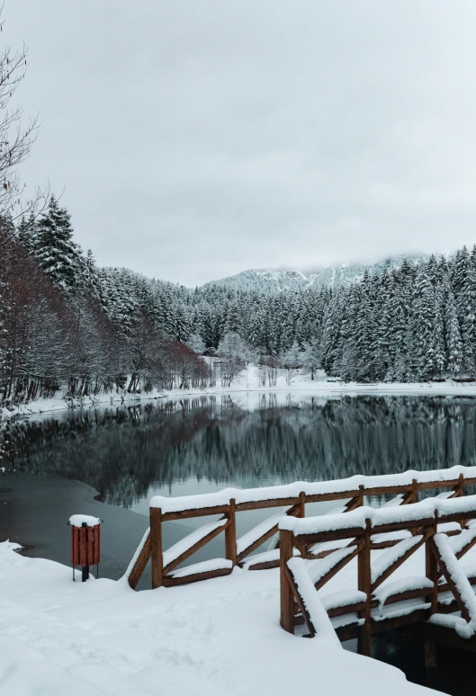
<path fill-rule="evenodd" d="M 476 242 L 474 0 L 6 0 L 101 265 L 194 285 Z"/>

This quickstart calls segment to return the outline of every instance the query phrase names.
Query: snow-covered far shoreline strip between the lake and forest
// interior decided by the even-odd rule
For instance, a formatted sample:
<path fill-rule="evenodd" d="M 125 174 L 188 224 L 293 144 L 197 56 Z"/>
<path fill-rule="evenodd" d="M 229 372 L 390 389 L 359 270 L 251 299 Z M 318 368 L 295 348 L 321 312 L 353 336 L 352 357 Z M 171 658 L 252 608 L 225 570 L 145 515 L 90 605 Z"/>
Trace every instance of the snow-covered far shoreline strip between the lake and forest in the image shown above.
<path fill-rule="evenodd" d="M 467 396 L 476 397 L 476 381 L 466 384 L 454 382 L 448 379 L 445 382 L 380 382 L 376 384 L 359 384 L 357 382 L 340 382 L 336 379 L 328 379 L 322 370 L 316 374 L 315 379 L 310 379 L 309 373 L 300 373 L 293 371 L 291 379 L 287 379 L 286 370 L 278 370 L 276 384 L 270 387 L 266 381 L 263 386 L 259 379 L 259 369 L 256 365 L 248 365 L 236 379 L 234 379 L 229 387 L 222 386 L 220 380 L 214 387 L 208 388 L 189 388 L 189 389 L 172 389 L 172 390 L 157 390 L 143 394 L 99 394 L 94 398 L 85 397 L 83 407 L 89 408 L 92 406 L 121 406 L 121 404 L 140 403 L 157 398 L 166 397 L 193 397 L 200 395 L 225 395 L 225 394 L 247 394 L 275 393 L 280 398 L 280 401 L 285 403 L 285 397 L 288 394 L 307 395 L 317 397 L 338 397 L 341 395 L 356 395 L 356 394 L 379 394 L 379 395 L 413 395 L 413 396 Z M 256 402 L 257 404 L 257 402 Z M 76 403 L 76 407 L 79 407 Z M 64 399 L 64 393 L 59 390 L 58 393 L 48 399 L 37 399 L 28 404 L 16 406 L 7 411 L 0 408 L 0 421 L 2 415 L 8 417 L 11 415 L 31 415 L 47 413 L 51 411 L 64 411 L 67 409 L 67 402 Z"/>

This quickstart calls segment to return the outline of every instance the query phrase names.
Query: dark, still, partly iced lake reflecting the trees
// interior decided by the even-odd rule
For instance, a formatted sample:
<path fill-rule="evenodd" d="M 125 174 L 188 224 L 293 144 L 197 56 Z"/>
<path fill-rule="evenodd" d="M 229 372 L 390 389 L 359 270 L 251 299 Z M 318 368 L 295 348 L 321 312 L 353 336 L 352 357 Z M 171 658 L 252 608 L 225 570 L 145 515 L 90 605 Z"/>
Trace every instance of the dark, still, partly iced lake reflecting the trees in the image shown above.
<path fill-rule="evenodd" d="M 148 526 L 151 495 L 472 466 L 476 399 L 184 397 L 45 414 L 17 421 L 11 433 L 17 473 L 2 479 L 0 538 L 27 544 L 27 555 L 68 563 L 68 517 L 96 514 L 104 520 L 101 573 L 117 578 Z M 253 514 L 238 531 L 259 521 L 261 513 Z M 165 545 L 194 523 L 168 522 Z M 220 544 L 215 540 L 193 560 L 221 555 Z M 141 586 L 149 586 L 148 576 Z M 426 683 L 409 638 L 379 638 L 375 646 L 378 656 Z M 444 659 L 449 656 L 446 651 Z M 441 689 L 445 670 L 438 673 Z M 464 683 L 452 688 L 466 693 Z"/>

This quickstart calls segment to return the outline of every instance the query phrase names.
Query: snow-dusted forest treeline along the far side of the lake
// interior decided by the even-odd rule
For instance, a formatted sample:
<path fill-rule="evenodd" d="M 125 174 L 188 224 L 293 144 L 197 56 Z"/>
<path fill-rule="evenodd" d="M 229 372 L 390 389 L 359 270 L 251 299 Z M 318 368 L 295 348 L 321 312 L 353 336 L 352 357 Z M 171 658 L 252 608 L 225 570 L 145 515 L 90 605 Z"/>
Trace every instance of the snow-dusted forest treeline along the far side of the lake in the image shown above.
<path fill-rule="evenodd" d="M 476 248 L 263 294 L 100 268 L 54 197 L 38 218 L 0 222 L 3 401 L 200 387 L 213 379 L 202 353 L 229 361 L 227 382 L 246 361 L 346 381 L 476 378 Z"/>

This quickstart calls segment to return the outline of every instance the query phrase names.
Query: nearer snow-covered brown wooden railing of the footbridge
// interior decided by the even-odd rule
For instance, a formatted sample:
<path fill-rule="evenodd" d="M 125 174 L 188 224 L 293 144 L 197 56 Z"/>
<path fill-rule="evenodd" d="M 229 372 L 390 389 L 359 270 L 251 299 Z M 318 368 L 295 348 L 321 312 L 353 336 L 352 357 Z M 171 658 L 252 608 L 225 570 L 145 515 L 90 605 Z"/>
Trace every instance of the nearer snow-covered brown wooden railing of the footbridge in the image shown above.
<path fill-rule="evenodd" d="M 315 617 L 321 615 L 320 607 L 327 611 L 338 638 L 358 638 L 364 655 L 370 655 L 373 633 L 414 623 L 426 630 L 427 665 L 436 663 L 435 640 L 454 645 L 455 637 L 463 638 L 464 647 L 476 650 L 472 589 L 476 564 L 459 563 L 476 544 L 476 495 L 436 496 L 405 507 L 362 507 L 307 519 L 282 518 L 279 528 L 283 629 L 294 633 L 305 623 L 314 636 L 319 632 Z M 450 537 L 448 531 L 456 533 Z M 373 539 L 385 536 L 395 544 L 372 558 Z M 328 542 L 342 548 L 317 559 L 315 549 Z M 388 582 L 423 546 L 425 575 Z M 295 558 L 296 549 L 301 558 Z M 354 558 L 356 587 L 328 596 L 319 592 Z M 322 620 L 320 624 L 326 629 Z"/>

